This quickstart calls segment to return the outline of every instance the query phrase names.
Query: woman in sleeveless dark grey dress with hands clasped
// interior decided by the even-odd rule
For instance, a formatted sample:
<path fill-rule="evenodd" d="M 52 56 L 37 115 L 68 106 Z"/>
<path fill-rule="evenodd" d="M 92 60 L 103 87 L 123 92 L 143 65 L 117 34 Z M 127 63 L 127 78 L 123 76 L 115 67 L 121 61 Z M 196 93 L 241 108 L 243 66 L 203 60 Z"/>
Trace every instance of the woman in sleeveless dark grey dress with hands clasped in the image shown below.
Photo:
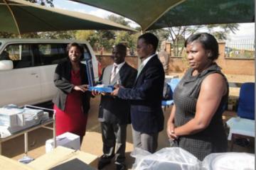
<path fill-rule="evenodd" d="M 218 42 L 213 35 L 191 35 L 185 47 L 191 68 L 174 91 L 166 131 L 174 147 L 186 149 L 202 161 L 210 153 L 227 151 L 222 114 L 228 102 L 228 81 L 214 62 Z"/>

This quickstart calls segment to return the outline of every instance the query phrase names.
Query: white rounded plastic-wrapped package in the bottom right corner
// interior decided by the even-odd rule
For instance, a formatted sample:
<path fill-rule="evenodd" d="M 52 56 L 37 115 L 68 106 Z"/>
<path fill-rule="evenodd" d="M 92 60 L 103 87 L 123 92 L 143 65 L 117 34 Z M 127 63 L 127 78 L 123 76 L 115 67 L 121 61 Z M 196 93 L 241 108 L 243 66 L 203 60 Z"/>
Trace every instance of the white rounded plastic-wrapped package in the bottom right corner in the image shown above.
<path fill-rule="evenodd" d="M 209 154 L 203 159 L 202 169 L 252 170 L 255 169 L 255 155 L 237 152 Z"/>

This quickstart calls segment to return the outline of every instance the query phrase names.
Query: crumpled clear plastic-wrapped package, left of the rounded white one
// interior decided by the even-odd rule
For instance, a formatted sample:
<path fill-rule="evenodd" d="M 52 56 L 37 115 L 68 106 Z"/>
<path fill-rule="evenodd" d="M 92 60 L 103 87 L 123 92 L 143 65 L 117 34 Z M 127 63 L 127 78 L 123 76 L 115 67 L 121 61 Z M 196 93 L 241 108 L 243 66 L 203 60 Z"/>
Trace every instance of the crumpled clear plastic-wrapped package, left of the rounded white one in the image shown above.
<path fill-rule="evenodd" d="M 198 170 L 201 167 L 193 154 L 179 147 L 166 147 L 154 154 L 135 148 L 131 156 L 136 158 L 132 166 L 136 170 Z"/>

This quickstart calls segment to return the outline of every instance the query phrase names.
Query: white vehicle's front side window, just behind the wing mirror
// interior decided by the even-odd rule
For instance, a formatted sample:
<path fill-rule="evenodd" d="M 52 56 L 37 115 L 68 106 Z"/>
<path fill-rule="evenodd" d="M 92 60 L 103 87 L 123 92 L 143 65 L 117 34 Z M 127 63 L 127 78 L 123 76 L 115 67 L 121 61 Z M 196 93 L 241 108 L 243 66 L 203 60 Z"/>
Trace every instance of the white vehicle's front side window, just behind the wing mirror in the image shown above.
<path fill-rule="evenodd" d="M 33 51 L 29 44 L 8 45 L 4 50 L 14 62 L 14 69 L 33 67 Z"/>

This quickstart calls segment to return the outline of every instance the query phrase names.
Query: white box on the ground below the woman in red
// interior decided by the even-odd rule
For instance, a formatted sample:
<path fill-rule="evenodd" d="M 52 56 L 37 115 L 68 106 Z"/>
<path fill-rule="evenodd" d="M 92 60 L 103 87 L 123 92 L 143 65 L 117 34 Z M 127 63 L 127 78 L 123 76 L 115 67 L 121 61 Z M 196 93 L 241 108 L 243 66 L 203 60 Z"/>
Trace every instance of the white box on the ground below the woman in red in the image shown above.
<path fill-rule="evenodd" d="M 65 132 L 56 137 L 57 146 L 68 147 L 70 149 L 80 149 L 80 136 L 71 132 Z M 53 139 L 46 140 L 46 153 L 53 150 Z"/>

